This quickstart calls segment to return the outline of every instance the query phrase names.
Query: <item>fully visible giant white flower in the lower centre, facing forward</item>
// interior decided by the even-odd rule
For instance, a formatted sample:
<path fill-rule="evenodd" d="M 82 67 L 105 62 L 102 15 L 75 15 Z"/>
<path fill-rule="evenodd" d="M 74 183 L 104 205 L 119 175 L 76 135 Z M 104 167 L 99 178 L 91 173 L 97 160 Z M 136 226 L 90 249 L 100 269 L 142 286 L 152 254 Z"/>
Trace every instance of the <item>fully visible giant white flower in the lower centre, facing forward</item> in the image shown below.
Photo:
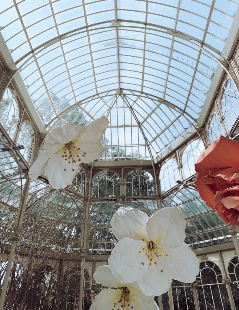
<path fill-rule="evenodd" d="M 176 207 L 163 208 L 150 218 L 140 210 L 119 208 L 111 219 L 119 239 L 109 258 L 113 275 L 123 283 L 137 281 L 148 296 L 166 293 L 172 279 L 193 282 L 199 263 L 183 243 L 185 225 Z"/>

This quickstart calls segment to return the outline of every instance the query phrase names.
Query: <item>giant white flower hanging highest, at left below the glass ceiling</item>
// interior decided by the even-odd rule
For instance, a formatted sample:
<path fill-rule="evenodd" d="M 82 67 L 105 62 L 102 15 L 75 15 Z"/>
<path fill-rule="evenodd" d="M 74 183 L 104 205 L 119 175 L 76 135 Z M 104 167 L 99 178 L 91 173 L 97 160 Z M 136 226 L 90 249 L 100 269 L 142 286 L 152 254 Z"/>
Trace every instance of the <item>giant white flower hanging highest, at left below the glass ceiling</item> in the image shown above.
<path fill-rule="evenodd" d="M 46 138 L 46 149 L 29 169 L 36 179 L 45 171 L 50 185 L 63 189 L 70 185 L 80 163 L 93 162 L 103 152 L 100 140 L 109 124 L 102 116 L 86 126 L 68 123 L 54 128 Z"/>

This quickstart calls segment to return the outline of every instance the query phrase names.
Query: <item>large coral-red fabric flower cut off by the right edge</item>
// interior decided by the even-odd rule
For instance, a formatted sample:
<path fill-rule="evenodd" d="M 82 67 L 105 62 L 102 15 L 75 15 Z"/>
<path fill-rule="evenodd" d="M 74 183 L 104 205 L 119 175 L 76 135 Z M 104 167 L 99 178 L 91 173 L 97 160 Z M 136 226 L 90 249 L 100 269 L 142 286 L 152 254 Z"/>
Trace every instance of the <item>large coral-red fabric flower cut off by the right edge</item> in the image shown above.
<path fill-rule="evenodd" d="M 239 143 L 220 136 L 198 158 L 195 185 L 228 224 L 239 225 Z"/>

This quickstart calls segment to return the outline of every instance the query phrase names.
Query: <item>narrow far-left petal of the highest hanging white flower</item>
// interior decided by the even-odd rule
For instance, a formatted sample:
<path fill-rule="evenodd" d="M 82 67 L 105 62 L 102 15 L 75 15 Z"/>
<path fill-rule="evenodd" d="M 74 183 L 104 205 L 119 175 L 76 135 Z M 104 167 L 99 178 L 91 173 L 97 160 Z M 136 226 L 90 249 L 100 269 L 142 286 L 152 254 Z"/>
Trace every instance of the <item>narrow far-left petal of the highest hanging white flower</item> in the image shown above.
<path fill-rule="evenodd" d="M 58 153 L 65 144 L 54 144 L 47 148 L 41 155 L 37 158 L 35 162 L 33 162 L 32 166 L 29 169 L 29 176 L 31 179 L 35 180 L 42 172 L 45 170 L 47 161 L 51 156 Z"/>

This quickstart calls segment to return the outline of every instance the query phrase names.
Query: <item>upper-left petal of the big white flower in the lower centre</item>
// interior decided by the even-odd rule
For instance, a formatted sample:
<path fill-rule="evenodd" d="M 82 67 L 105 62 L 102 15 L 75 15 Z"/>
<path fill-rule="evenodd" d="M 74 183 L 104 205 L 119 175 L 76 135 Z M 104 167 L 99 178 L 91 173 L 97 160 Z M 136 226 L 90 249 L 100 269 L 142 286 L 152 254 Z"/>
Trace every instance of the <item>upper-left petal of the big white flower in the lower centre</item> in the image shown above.
<path fill-rule="evenodd" d="M 117 239 L 131 237 L 147 240 L 148 234 L 145 227 L 148 219 L 145 212 L 122 207 L 115 212 L 110 224 Z"/>

